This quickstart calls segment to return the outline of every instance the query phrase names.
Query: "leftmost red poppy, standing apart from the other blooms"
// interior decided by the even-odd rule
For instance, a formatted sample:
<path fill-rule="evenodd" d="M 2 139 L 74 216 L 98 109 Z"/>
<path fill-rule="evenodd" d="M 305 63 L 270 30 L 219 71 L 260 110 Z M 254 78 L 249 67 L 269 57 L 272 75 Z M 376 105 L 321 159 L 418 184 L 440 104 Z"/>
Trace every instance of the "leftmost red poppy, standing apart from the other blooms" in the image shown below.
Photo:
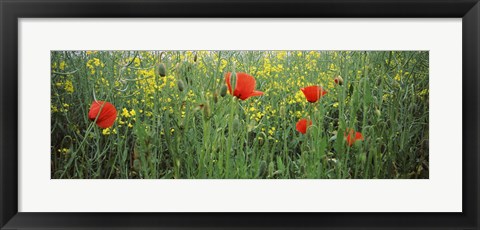
<path fill-rule="evenodd" d="M 88 119 L 94 121 L 95 118 L 97 118 L 97 125 L 100 128 L 109 128 L 115 123 L 115 119 L 117 119 L 117 110 L 110 102 L 94 101 L 90 106 Z"/>

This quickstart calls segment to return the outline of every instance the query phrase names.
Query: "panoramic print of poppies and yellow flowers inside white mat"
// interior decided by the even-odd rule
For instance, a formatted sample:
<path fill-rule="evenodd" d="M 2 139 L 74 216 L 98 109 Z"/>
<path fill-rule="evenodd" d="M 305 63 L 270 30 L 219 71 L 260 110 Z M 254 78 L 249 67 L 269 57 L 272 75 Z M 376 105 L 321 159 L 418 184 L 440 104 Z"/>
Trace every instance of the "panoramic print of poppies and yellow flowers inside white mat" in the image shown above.
<path fill-rule="evenodd" d="M 52 179 L 427 179 L 428 51 L 52 51 Z"/>

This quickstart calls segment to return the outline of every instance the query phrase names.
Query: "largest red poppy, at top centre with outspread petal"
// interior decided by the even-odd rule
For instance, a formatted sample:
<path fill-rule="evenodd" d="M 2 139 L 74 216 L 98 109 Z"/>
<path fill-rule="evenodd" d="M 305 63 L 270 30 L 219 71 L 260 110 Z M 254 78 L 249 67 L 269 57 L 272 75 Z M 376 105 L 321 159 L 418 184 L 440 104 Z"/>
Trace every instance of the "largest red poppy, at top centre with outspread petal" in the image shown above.
<path fill-rule="evenodd" d="M 231 95 L 238 97 L 242 100 L 246 100 L 249 97 L 260 96 L 263 92 L 255 90 L 255 78 L 246 74 L 246 73 L 237 73 L 237 79 L 235 84 L 235 90 L 232 93 L 232 85 L 230 83 L 230 76 L 232 73 L 228 72 L 225 74 L 225 82 L 228 86 L 228 92 Z"/>

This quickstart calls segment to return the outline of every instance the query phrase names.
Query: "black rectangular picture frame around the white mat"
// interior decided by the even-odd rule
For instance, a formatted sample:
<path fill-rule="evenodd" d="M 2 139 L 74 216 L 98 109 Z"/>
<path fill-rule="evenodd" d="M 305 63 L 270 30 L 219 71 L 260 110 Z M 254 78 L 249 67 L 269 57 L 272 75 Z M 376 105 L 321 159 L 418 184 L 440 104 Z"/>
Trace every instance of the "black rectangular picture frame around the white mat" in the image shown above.
<path fill-rule="evenodd" d="M 478 0 L 0 0 L 0 15 L 1 229 L 479 229 Z M 62 17 L 462 18 L 463 212 L 18 212 L 18 19 Z"/>

